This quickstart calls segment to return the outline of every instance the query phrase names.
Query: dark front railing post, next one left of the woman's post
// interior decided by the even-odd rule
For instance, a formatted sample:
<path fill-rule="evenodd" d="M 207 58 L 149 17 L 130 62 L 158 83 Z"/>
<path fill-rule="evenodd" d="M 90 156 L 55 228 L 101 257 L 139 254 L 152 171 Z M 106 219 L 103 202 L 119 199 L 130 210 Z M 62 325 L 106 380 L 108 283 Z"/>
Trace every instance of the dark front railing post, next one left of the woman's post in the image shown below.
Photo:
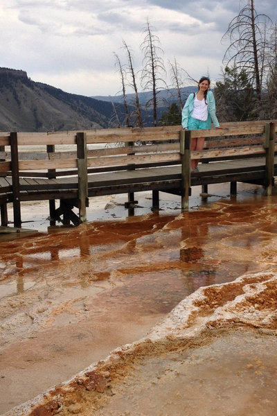
<path fill-rule="evenodd" d="M 87 135 L 78 132 L 77 143 L 77 166 L 78 166 L 78 207 L 80 222 L 87 221 L 88 205 L 88 181 L 87 181 Z"/>

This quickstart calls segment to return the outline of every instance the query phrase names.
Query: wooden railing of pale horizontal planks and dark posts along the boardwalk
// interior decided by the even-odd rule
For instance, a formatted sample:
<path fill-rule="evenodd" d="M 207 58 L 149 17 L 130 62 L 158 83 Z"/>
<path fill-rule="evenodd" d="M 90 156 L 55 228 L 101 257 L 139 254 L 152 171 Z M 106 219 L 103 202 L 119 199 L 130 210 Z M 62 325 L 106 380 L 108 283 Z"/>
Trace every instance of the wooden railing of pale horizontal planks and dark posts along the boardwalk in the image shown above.
<path fill-rule="evenodd" d="M 87 175 L 177 164 L 181 165 L 182 209 L 186 209 L 191 178 L 190 159 L 213 162 L 265 155 L 265 183 L 269 195 L 274 176 L 274 153 L 277 151 L 275 124 L 276 121 L 222 123 L 223 130 L 186 132 L 177 125 L 83 132 L 0 133 L 0 175 L 6 180 L 12 177 L 9 189 L 3 187 L 0 181 L 1 213 L 7 201 L 13 202 L 16 226 L 21 224 L 20 201 L 28 200 L 28 196 L 22 194 L 28 191 L 28 184 L 21 184 L 22 177 L 58 179 L 67 176 L 78 178 L 74 186 L 73 179 L 64 180 L 62 189 L 73 193 L 82 222 L 86 220 Z M 206 137 L 204 150 L 190 151 L 193 137 Z M 32 146 L 32 150 L 25 150 L 26 146 Z M 57 184 L 56 189 L 58 187 Z M 38 187 L 44 191 L 54 188 L 54 184 L 43 187 L 42 183 Z M 69 198 L 69 195 L 56 192 L 55 196 L 51 193 L 49 199 L 53 198 Z M 5 222 L 2 215 L 1 220 Z"/>

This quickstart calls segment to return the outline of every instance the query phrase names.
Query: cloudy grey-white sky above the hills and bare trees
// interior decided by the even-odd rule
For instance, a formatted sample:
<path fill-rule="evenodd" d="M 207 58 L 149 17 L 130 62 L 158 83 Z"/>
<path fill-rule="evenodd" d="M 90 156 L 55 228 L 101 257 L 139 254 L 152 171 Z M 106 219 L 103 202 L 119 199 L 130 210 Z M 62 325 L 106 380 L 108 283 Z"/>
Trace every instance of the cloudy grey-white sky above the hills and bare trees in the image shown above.
<path fill-rule="evenodd" d="M 22 69 L 34 81 L 74 94 L 115 95 L 114 53 L 127 62 L 125 40 L 139 71 L 149 20 L 168 72 L 176 59 L 193 78 L 208 72 L 217 80 L 228 46 L 222 35 L 246 1 L 1 0 L 0 67 Z M 256 10 L 277 20 L 276 0 L 256 0 Z"/>

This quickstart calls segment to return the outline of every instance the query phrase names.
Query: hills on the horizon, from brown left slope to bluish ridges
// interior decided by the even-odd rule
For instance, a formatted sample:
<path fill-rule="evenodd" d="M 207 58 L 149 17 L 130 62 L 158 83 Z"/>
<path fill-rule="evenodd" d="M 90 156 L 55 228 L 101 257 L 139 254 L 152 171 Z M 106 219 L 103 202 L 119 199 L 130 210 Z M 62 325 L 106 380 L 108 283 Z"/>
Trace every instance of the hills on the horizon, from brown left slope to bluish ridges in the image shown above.
<path fill-rule="evenodd" d="M 181 89 L 183 101 L 195 87 Z M 158 94 L 158 119 L 172 102 L 177 90 Z M 143 125 L 152 125 L 152 110 L 145 110 L 151 92 L 139 93 Z M 134 114 L 134 94 L 127 94 L 129 113 Z M 116 109 L 116 116 L 114 109 Z M 26 71 L 0 68 L 0 131 L 46 132 L 89 130 L 124 125 L 123 96 L 82 96 L 28 78 Z"/>

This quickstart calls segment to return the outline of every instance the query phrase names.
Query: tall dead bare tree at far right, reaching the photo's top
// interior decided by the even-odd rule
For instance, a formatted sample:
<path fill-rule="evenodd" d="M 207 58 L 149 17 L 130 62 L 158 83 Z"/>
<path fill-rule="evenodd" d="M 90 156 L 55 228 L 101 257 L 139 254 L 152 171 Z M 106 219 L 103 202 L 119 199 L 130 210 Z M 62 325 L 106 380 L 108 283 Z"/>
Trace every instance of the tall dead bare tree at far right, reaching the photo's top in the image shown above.
<path fill-rule="evenodd" d="M 267 26 L 271 19 L 267 15 L 258 14 L 254 0 L 247 0 L 238 16 L 231 20 L 222 40 L 229 38 L 231 44 L 224 54 L 223 62 L 227 67 L 234 66 L 246 71 L 258 100 L 261 99 L 262 81 L 267 69 Z"/>

